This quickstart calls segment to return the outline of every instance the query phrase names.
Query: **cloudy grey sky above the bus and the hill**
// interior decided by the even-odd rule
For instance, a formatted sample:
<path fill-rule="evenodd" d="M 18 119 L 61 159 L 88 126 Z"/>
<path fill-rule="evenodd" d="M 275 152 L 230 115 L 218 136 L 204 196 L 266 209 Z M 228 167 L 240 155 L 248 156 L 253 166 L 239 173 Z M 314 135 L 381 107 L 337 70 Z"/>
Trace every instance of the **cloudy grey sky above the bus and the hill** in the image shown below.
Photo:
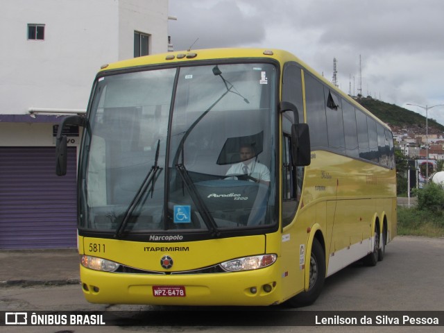
<path fill-rule="evenodd" d="M 176 51 L 261 47 L 290 51 L 357 94 L 406 105 L 444 104 L 442 0 L 169 0 Z M 351 77 L 351 78 L 350 78 Z M 351 86 L 351 87 L 350 87 Z M 444 124 L 444 106 L 428 110 Z"/>

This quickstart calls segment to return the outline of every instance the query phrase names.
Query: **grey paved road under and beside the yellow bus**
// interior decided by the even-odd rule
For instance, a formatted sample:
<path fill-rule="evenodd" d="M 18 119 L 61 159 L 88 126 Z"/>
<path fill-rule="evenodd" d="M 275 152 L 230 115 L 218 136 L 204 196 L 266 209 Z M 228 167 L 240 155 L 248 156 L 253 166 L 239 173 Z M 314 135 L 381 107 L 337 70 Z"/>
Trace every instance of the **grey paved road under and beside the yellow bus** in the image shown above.
<path fill-rule="evenodd" d="M 130 326 L 8 326 L 1 327 L 1 332 L 444 332 L 444 323 L 441 327 L 295 325 L 305 314 L 317 311 L 382 311 L 388 316 L 393 314 L 390 311 L 444 311 L 443 254 L 442 238 L 396 237 L 388 244 L 384 261 L 375 267 L 353 264 L 327 278 L 316 303 L 302 309 L 225 307 L 207 311 L 208 308 L 92 305 L 84 300 L 78 285 L 6 287 L 0 289 L 0 311 L 132 312 L 116 312 Z M 215 326 L 210 326 L 213 321 Z"/>

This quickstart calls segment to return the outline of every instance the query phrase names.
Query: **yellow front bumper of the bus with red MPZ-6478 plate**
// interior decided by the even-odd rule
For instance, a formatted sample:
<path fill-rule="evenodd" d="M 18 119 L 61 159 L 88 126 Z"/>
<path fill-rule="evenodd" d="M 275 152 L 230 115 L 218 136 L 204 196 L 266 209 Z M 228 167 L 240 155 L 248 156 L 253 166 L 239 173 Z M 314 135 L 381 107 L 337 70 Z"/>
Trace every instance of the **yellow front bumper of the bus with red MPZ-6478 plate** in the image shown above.
<path fill-rule="evenodd" d="M 282 299 L 275 264 L 257 271 L 194 275 L 107 273 L 80 265 L 80 280 L 92 303 L 275 305 Z"/>

